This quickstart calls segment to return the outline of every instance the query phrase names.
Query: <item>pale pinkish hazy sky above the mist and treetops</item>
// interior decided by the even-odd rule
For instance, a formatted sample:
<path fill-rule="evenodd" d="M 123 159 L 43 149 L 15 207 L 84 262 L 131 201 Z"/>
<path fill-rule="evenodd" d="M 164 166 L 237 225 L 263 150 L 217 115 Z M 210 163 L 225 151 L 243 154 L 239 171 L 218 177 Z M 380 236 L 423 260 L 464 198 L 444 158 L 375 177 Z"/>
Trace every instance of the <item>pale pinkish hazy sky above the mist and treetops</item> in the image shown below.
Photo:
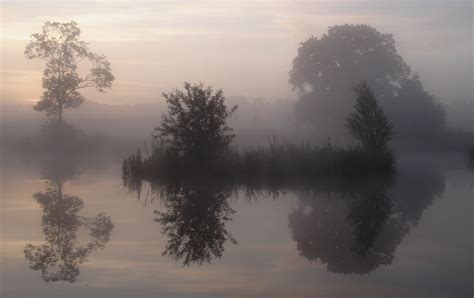
<path fill-rule="evenodd" d="M 0 0 L 1 96 L 41 95 L 42 61 L 23 51 L 45 21 L 76 21 L 116 77 L 105 103 L 163 100 L 199 80 L 226 95 L 294 98 L 288 72 L 300 42 L 331 25 L 366 23 L 392 33 L 426 88 L 449 101 L 472 98 L 473 2 L 467 1 L 22 1 Z"/>

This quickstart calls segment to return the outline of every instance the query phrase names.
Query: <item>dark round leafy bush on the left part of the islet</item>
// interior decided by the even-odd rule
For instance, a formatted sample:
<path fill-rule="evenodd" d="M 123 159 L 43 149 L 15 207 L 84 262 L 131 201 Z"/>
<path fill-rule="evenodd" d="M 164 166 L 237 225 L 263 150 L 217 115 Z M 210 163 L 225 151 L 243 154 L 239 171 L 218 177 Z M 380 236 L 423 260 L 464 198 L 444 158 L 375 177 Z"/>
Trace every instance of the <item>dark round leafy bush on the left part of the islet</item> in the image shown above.
<path fill-rule="evenodd" d="M 229 149 L 235 137 L 227 119 L 237 109 L 228 109 L 222 90 L 214 92 L 202 83 L 184 83 L 184 90 L 163 93 L 168 112 L 155 128 L 169 150 L 192 162 L 209 161 Z"/>

